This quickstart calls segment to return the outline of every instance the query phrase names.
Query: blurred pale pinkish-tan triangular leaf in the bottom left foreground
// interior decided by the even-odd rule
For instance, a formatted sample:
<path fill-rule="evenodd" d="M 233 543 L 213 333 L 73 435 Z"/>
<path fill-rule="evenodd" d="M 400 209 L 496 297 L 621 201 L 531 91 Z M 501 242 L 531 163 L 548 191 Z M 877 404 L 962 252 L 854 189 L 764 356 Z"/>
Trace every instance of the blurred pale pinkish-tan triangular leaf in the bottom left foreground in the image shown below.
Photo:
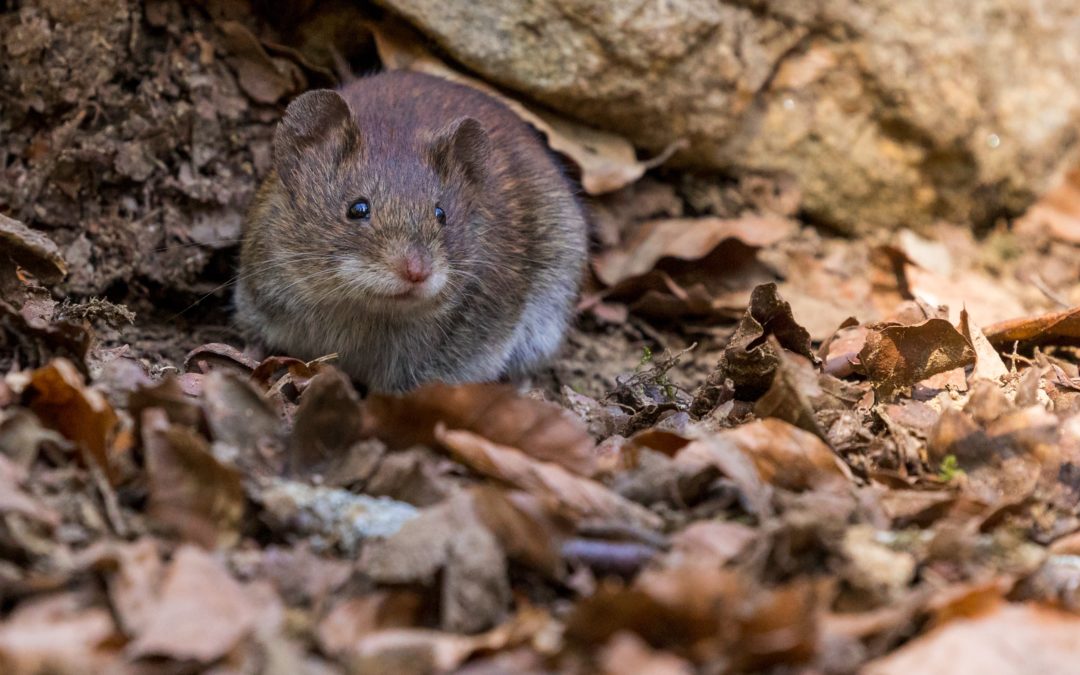
<path fill-rule="evenodd" d="M 194 546 L 180 546 L 127 653 L 208 664 L 251 634 L 258 610 L 220 562 Z"/>

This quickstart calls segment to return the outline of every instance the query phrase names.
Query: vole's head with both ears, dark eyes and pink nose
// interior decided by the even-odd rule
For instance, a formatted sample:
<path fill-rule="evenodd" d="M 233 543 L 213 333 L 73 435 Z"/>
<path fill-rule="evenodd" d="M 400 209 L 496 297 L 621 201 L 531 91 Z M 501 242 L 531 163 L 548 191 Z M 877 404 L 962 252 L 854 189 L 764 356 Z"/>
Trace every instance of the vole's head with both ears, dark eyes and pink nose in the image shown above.
<path fill-rule="evenodd" d="M 490 140 L 468 117 L 434 131 L 372 126 L 334 91 L 289 104 L 273 140 L 285 193 L 269 233 L 276 260 L 264 262 L 311 303 L 436 308 L 472 274 Z"/>

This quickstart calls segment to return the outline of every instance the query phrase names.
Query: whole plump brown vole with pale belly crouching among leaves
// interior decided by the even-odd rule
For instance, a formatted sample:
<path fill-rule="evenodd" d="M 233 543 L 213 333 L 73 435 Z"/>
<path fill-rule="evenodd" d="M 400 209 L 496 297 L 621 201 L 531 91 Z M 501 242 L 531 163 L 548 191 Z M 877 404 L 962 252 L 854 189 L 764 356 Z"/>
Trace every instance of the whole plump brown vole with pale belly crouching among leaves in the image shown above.
<path fill-rule="evenodd" d="M 383 72 L 295 98 L 249 207 L 240 327 L 374 391 L 515 379 L 559 348 L 586 255 L 569 180 L 492 97 Z"/>

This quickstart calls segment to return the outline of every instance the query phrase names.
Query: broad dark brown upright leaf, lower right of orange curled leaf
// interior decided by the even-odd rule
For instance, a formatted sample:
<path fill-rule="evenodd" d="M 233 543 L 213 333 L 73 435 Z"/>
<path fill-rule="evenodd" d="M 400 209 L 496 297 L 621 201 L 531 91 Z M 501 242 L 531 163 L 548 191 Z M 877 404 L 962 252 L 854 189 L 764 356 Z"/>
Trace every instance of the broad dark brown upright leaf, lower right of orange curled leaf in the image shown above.
<path fill-rule="evenodd" d="M 168 424 L 160 410 L 143 415 L 143 446 L 152 516 L 207 549 L 234 543 L 246 504 L 240 472 L 214 457 L 190 428 Z"/>

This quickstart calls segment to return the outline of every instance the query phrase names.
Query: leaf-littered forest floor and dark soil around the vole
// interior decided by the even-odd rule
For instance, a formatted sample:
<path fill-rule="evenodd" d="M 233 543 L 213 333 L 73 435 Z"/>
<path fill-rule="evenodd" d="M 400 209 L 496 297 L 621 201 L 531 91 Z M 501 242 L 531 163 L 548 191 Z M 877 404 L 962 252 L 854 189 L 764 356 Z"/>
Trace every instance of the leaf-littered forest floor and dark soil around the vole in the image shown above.
<path fill-rule="evenodd" d="M 362 396 L 231 328 L 280 100 L 334 76 L 208 4 L 0 13 L 0 672 L 1075 667 L 1080 176 L 854 237 L 653 171 L 585 198 L 530 388 Z"/>

